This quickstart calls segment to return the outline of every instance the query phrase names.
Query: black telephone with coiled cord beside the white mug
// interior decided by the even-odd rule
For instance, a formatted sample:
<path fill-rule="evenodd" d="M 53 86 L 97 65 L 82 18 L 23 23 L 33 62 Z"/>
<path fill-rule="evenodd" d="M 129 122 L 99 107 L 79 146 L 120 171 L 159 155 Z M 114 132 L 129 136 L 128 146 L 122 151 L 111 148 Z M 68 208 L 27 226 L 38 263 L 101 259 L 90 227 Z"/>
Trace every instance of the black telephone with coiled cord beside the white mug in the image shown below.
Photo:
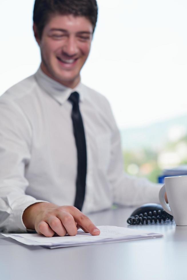
<path fill-rule="evenodd" d="M 173 216 L 168 214 L 160 204 L 156 203 L 147 203 L 143 204 L 132 212 L 131 216 L 128 218 L 127 223 L 130 225 L 139 225 L 140 223 L 148 224 L 152 223 L 161 223 L 161 221 L 173 220 Z"/>

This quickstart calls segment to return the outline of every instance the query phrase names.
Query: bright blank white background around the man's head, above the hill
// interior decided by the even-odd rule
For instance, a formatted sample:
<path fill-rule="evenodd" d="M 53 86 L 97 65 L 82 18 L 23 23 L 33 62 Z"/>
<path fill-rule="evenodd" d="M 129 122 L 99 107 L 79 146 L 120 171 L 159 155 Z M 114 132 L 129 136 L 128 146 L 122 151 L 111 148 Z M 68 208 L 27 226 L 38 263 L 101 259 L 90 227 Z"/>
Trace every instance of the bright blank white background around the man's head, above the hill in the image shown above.
<path fill-rule="evenodd" d="M 0 95 L 39 66 L 33 4 L 0 2 Z M 186 114 L 187 2 L 98 0 L 98 5 L 82 81 L 109 99 L 119 127 Z"/>

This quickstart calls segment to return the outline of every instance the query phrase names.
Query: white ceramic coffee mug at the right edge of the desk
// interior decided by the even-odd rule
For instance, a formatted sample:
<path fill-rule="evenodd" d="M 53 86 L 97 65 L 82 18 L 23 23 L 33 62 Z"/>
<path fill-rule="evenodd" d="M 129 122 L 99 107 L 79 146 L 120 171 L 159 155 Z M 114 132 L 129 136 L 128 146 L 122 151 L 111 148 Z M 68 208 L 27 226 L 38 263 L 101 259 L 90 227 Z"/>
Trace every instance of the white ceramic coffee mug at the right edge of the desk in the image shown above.
<path fill-rule="evenodd" d="M 170 206 L 165 201 L 165 192 Z M 174 217 L 176 225 L 187 225 L 187 175 L 165 177 L 159 200 L 164 210 Z"/>

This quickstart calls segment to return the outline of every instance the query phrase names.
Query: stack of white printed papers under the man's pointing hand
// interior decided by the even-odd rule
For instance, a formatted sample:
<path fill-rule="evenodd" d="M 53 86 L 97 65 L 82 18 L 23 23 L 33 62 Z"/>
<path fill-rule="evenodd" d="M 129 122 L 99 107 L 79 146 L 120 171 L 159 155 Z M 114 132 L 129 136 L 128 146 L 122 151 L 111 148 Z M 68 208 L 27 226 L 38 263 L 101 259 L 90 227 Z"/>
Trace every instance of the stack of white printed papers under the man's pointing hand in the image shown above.
<path fill-rule="evenodd" d="M 11 237 L 26 245 L 41 245 L 48 248 L 72 247 L 81 245 L 92 245 L 98 243 L 129 241 L 135 239 L 147 239 L 162 237 L 160 233 L 151 233 L 145 230 L 129 229 L 115 226 L 98 226 L 100 235 L 91 235 L 82 230 L 78 230 L 77 235 L 63 237 L 45 237 L 37 233 L 23 234 L 3 234 L 5 237 Z"/>

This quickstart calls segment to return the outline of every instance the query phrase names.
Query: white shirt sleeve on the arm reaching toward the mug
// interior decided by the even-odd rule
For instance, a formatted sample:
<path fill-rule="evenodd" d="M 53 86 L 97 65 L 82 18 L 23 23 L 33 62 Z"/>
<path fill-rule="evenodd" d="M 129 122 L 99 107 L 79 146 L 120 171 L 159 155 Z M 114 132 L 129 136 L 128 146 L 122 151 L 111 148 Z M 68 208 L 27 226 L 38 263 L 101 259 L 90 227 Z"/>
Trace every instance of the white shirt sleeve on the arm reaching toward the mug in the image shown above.
<path fill-rule="evenodd" d="M 112 138 L 108 178 L 113 189 L 114 203 L 126 206 L 159 203 L 158 194 L 162 184 L 152 183 L 146 178 L 130 176 L 124 172 L 120 133 L 111 109 L 109 115 Z"/>

